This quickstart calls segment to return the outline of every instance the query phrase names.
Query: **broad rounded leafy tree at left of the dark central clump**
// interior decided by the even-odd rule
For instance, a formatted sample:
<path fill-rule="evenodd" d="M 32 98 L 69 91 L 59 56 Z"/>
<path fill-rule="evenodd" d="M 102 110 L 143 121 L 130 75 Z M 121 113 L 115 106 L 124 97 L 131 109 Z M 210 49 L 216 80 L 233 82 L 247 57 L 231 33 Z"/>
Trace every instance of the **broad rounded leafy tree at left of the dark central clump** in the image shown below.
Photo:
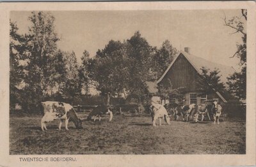
<path fill-rule="evenodd" d="M 110 97 L 120 94 L 127 84 L 127 60 L 124 44 L 111 40 L 103 50 L 97 52 L 92 61 L 93 80 L 97 82 L 96 88 L 102 96 L 108 97 L 108 104 Z"/>

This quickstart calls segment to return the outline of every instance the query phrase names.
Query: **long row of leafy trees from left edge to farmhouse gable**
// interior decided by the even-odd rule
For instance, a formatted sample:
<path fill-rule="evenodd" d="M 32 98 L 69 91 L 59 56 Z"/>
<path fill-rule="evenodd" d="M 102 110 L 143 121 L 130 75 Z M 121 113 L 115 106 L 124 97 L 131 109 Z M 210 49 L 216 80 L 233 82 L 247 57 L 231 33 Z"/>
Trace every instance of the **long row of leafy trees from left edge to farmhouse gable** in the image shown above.
<path fill-rule="evenodd" d="M 145 82 L 157 80 L 177 54 L 170 41 L 153 47 L 137 31 L 127 40 L 110 40 L 93 56 L 84 50 L 79 64 L 74 51 L 58 48 L 60 38 L 50 12 L 32 11 L 28 19 L 31 26 L 25 34 L 19 34 L 10 20 L 10 105 L 19 103 L 28 111 L 50 97 L 72 103 L 81 94 L 89 96 L 92 87 L 106 96 L 106 103 L 127 95 L 141 103 L 148 98 Z M 219 73 L 214 73 L 214 80 Z"/>

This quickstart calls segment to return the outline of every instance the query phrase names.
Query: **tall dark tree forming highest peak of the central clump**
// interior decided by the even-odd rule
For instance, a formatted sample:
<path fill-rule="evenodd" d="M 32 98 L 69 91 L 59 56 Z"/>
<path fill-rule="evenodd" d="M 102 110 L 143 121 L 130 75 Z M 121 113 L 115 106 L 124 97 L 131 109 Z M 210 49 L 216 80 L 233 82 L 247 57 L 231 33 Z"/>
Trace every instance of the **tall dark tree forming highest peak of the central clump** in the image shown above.
<path fill-rule="evenodd" d="M 140 31 L 127 40 L 127 56 L 129 57 L 129 78 L 127 90 L 141 101 L 147 95 L 146 81 L 152 80 L 150 73 L 152 62 L 152 47 L 141 37 Z"/>

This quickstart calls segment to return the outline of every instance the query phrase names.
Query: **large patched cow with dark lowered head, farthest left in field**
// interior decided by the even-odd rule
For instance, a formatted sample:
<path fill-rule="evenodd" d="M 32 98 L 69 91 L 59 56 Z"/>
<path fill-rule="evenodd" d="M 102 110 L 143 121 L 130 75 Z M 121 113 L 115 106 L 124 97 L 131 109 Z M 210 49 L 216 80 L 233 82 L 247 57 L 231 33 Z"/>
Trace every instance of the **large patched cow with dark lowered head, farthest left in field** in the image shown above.
<path fill-rule="evenodd" d="M 46 122 L 51 122 L 52 120 L 60 120 L 59 129 L 61 129 L 61 124 L 65 120 L 65 128 L 68 130 L 68 120 L 74 122 L 77 129 L 83 129 L 81 120 L 78 119 L 74 108 L 67 104 L 58 101 L 45 101 L 40 105 L 40 109 L 44 112 L 44 117 L 41 119 L 42 131 L 47 130 Z"/>

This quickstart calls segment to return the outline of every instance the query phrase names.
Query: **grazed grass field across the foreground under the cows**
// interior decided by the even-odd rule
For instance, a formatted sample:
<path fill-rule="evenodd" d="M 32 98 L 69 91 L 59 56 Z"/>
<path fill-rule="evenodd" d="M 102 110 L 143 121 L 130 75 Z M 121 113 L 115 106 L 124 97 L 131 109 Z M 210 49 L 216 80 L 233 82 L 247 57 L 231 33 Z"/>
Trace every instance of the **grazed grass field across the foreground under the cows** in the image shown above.
<path fill-rule="evenodd" d="M 79 118 L 86 119 L 84 113 Z M 59 131 L 58 121 L 40 128 L 41 116 L 10 116 L 10 154 L 245 154 L 246 124 L 225 119 L 220 125 L 171 121 L 153 127 L 148 115 L 109 115 L 102 121 L 73 122 Z M 172 118 L 173 119 L 173 118 Z M 162 121 L 163 122 L 163 121 Z"/>

